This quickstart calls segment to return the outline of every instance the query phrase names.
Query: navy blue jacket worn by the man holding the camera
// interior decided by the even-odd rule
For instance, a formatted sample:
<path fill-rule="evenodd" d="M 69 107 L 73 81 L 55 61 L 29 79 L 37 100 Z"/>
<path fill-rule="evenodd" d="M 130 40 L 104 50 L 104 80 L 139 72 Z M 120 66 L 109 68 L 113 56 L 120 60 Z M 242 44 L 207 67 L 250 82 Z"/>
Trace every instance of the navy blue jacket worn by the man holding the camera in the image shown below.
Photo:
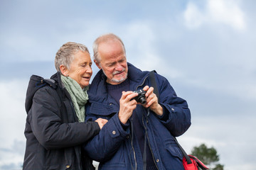
<path fill-rule="evenodd" d="M 174 136 L 182 135 L 188 130 L 191 113 L 186 101 L 176 96 L 169 81 L 159 74 L 155 74 L 155 77 L 159 89 L 159 103 L 164 107 L 164 114 L 167 114 L 168 119 L 160 120 L 152 111 L 148 115 L 147 109 L 141 105 L 137 105 L 135 110 L 141 113 L 158 169 L 183 169 L 183 155 L 174 141 Z M 142 169 L 142 153 L 138 141 L 132 135 L 132 128 L 124 130 L 121 125 L 118 118 L 119 105 L 107 93 L 106 79 L 102 70 L 93 79 L 88 91 L 86 118 L 106 118 L 108 123 L 100 130 L 99 135 L 84 145 L 84 149 L 92 159 L 100 162 L 99 169 Z M 131 91 L 142 89 L 146 85 L 151 86 L 149 72 L 142 72 L 129 63 L 128 79 Z M 131 126 L 132 120 L 128 124 Z"/>

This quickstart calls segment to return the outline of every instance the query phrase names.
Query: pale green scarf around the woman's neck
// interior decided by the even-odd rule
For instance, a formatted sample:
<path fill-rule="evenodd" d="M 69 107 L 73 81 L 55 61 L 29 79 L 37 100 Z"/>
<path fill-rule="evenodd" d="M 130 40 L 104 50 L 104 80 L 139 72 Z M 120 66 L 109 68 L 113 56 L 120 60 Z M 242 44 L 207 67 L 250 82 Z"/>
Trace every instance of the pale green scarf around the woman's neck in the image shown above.
<path fill-rule="evenodd" d="M 75 108 L 75 113 L 78 116 L 78 121 L 84 122 L 85 103 L 87 103 L 88 100 L 87 90 L 89 89 L 89 86 L 86 86 L 85 89 L 82 89 L 77 81 L 63 75 L 61 75 L 61 81 L 63 81 L 65 89 L 67 89 L 68 93 L 71 96 L 71 100 Z"/>

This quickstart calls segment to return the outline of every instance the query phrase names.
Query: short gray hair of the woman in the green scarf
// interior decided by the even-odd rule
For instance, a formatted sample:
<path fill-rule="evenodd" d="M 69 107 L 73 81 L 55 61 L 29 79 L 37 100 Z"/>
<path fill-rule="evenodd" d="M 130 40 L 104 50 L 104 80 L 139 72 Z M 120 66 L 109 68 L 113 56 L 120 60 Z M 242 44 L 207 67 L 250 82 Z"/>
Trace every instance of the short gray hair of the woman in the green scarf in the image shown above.
<path fill-rule="evenodd" d="M 60 72 L 60 65 L 63 64 L 65 67 L 70 69 L 70 63 L 74 59 L 74 55 L 79 52 L 89 52 L 85 45 L 76 42 L 67 42 L 60 47 L 55 56 L 55 68 Z"/>

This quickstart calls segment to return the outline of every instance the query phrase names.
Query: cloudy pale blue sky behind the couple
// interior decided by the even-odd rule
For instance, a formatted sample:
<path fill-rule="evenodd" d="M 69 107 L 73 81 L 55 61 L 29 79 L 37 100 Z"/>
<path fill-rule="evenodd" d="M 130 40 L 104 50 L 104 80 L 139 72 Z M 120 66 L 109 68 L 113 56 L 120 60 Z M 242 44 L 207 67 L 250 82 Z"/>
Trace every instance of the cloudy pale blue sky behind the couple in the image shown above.
<path fill-rule="evenodd" d="M 192 125 L 178 137 L 188 153 L 205 143 L 225 169 L 255 169 L 255 8 L 254 0 L 1 0 L 0 169 L 21 169 L 29 77 L 54 74 L 65 42 L 92 53 L 103 33 L 119 35 L 128 62 L 155 69 L 188 101 Z"/>

